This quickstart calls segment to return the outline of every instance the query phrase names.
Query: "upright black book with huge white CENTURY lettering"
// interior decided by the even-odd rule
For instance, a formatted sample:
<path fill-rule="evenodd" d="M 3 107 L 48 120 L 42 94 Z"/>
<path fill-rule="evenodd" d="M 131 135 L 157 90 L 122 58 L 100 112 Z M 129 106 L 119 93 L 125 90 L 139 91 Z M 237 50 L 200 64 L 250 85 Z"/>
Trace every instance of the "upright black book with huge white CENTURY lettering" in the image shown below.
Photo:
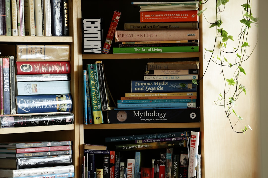
<path fill-rule="evenodd" d="M 83 54 L 101 54 L 102 18 L 82 18 Z"/>

